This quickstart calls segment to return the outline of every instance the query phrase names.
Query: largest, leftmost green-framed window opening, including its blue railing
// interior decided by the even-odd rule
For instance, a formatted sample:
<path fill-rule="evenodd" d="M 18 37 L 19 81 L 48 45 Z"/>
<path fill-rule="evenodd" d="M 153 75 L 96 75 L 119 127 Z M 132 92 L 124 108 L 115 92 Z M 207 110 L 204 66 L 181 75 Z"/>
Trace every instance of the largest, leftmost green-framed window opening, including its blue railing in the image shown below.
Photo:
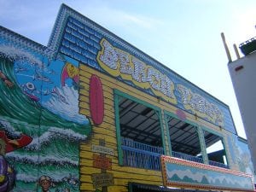
<path fill-rule="evenodd" d="M 158 112 L 149 104 L 134 100 L 118 96 L 116 102 L 123 165 L 160 170 L 160 154 L 164 152 Z"/>

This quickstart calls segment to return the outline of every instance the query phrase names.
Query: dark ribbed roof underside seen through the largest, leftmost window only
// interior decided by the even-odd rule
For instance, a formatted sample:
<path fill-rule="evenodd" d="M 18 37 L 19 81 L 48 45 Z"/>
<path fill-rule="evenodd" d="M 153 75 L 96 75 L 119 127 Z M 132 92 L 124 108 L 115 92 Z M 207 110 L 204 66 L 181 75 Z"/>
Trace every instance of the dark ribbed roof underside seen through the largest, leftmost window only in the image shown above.
<path fill-rule="evenodd" d="M 119 122 L 122 137 L 139 143 L 162 146 L 160 119 L 154 109 L 120 97 Z"/>

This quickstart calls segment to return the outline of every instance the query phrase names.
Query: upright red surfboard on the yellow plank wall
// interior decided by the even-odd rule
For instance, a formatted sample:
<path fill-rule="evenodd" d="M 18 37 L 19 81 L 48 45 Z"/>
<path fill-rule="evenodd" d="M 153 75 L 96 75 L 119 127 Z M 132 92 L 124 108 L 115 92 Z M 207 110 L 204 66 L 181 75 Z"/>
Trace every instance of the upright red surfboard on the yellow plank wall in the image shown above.
<path fill-rule="evenodd" d="M 90 115 L 95 125 L 102 124 L 104 117 L 104 98 L 102 90 L 102 81 L 96 75 L 90 77 Z"/>

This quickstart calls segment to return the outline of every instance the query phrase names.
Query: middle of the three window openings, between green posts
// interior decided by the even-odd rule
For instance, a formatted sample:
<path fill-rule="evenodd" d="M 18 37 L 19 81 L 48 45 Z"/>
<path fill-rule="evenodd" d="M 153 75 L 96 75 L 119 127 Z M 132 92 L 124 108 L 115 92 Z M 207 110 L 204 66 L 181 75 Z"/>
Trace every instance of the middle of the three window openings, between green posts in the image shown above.
<path fill-rule="evenodd" d="M 167 115 L 172 156 L 203 163 L 197 127 Z"/>

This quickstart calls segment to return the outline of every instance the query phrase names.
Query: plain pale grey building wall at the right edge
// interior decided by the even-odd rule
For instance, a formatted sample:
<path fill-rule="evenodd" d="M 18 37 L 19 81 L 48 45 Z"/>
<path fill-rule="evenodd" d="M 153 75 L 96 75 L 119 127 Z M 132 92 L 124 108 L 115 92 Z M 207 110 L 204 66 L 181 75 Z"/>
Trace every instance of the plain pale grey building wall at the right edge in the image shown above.
<path fill-rule="evenodd" d="M 256 40 L 252 38 L 240 45 L 241 52 L 245 55 L 236 61 L 228 64 L 230 78 L 236 93 L 236 100 L 241 112 L 241 119 L 245 127 L 248 146 L 253 160 L 254 170 L 256 168 L 256 148 L 255 148 L 255 124 L 253 108 L 256 107 L 254 95 L 256 94 L 253 82 L 256 80 Z"/>

